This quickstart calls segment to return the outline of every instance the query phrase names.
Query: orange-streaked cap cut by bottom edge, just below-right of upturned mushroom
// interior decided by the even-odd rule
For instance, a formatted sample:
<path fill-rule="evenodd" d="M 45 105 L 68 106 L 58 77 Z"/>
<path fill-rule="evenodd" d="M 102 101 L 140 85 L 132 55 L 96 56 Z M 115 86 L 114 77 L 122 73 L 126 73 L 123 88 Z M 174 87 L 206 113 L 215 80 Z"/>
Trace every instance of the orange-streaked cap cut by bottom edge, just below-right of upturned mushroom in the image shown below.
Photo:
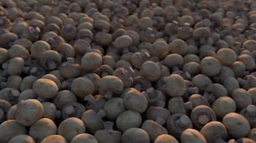
<path fill-rule="evenodd" d="M 202 134 L 195 129 L 186 129 L 181 135 L 182 143 L 207 143 Z"/>

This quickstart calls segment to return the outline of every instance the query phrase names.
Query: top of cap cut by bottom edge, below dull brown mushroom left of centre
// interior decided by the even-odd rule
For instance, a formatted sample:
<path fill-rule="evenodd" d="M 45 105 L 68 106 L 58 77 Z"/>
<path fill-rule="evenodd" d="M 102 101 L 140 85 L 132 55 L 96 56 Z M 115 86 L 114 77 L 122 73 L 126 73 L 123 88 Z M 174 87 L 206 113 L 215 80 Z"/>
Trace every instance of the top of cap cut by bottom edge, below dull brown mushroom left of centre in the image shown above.
<path fill-rule="evenodd" d="M 98 143 L 98 141 L 95 139 L 95 136 L 92 136 L 88 133 L 81 133 L 77 136 L 74 136 L 74 138 L 71 140 L 70 143 L 80 143 L 80 142 Z"/>

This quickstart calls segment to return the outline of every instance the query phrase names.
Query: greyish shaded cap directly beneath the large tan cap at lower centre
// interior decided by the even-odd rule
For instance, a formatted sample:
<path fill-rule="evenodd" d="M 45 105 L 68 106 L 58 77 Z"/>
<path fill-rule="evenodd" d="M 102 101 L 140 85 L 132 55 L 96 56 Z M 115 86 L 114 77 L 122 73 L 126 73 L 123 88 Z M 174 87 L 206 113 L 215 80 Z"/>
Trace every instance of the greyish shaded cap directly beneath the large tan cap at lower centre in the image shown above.
<path fill-rule="evenodd" d="M 125 132 L 133 127 L 141 126 L 142 117 L 141 114 L 136 111 L 124 111 L 117 116 L 115 125 L 121 132 Z"/>

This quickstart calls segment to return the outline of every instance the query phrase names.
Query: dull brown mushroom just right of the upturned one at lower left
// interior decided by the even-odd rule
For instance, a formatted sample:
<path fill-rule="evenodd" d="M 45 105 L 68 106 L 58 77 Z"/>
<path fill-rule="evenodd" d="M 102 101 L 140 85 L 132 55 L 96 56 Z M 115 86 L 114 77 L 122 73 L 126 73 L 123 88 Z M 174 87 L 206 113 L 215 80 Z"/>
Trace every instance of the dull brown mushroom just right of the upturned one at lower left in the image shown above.
<path fill-rule="evenodd" d="M 104 122 L 101 119 L 101 116 L 94 111 L 94 110 L 87 110 L 84 111 L 83 115 L 81 116 L 81 120 L 84 121 L 84 125 L 86 126 L 86 130 L 90 133 L 95 133 L 98 130 L 104 128 Z"/>

